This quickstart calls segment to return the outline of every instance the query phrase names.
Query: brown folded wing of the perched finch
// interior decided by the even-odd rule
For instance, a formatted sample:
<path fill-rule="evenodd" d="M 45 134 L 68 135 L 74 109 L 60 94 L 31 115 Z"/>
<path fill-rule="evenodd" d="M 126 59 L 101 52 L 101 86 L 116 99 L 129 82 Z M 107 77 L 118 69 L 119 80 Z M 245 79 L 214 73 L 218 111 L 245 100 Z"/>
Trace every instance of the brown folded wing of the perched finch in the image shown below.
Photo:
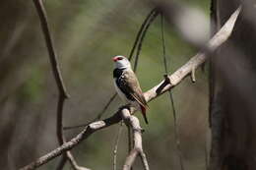
<path fill-rule="evenodd" d="M 132 70 L 125 71 L 123 73 L 123 79 L 126 82 L 126 87 L 128 88 L 130 94 L 133 98 L 144 107 L 148 107 L 145 97 L 143 95 L 141 86 L 138 82 L 138 79 Z"/>

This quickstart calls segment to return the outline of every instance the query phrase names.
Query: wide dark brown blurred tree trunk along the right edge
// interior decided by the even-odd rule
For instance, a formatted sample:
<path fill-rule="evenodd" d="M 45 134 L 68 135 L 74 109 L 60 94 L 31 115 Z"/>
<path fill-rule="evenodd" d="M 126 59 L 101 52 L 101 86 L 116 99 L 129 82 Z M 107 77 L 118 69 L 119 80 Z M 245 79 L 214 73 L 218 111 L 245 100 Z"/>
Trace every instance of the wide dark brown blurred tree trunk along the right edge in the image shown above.
<path fill-rule="evenodd" d="M 209 170 L 256 169 L 256 4 L 212 0 L 213 31 L 242 11 L 230 39 L 211 60 Z"/>

